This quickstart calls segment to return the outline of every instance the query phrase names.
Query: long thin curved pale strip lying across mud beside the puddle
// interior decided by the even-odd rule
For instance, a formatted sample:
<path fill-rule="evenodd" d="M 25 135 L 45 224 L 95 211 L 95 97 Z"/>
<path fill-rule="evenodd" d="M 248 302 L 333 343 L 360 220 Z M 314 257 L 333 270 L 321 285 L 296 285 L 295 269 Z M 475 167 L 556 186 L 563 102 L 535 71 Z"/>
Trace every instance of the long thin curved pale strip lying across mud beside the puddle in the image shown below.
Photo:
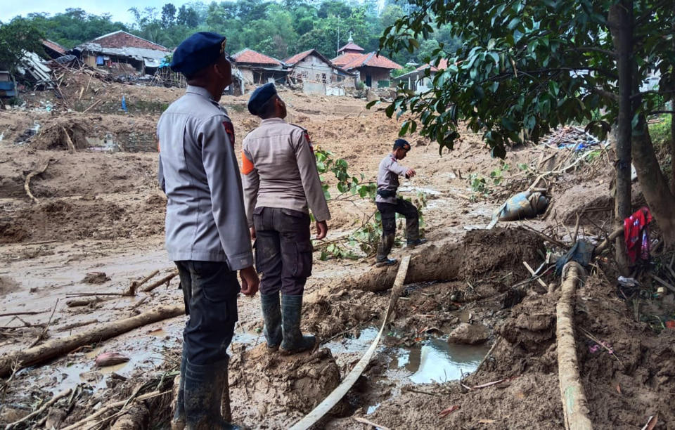
<path fill-rule="evenodd" d="M 410 256 L 406 255 L 401 260 L 401 264 L 399 265 L 399 270 L 396 274 L 396 280 L 394 280 L 394 287 L 392 288 L 392 295 L 389 302 L 389 307 L 387 308 L 387 312 L 385 313 L 385 318 L 383 318 L 382 320 L 382 326 L 380 327 L 378 335 L 375 337 L 375 339 L 373 339 L 373 343 L 368 348 L 368 351 L 366 351 L 364 356 L 361 357 L 359 363 L 356 363 L 352 371 L 349 372 L 349 374 L 347 374 L 347 377 L 345 377 L 345 379 L 342 380 L 342 383 L 338 385 L 338 387 L 335 388 L 335 390 L 333 390 L 333 392 L 330 393 L 328 397 L 323 399 L 323 401 L 319 403 L 319 405 L 316 406 L 314 410 L 309 412 L 309 414 L 305 415 L 305 417 L 300 419 L 299 422 L 295 423 L 295 425 L 291 427 L 290 430 L 307 430 L 309 429 L 309 427 L 316 424 L 316 422 L 318 422 L 319 419 L 323 417 L 323 415 L 326 415 L 329 410 L 333 409 L 333 406 L 337 405 L 338 402 L 345 396 L 345 394 L 347 394 L 347 391 L 349 391 L 349 389 L 352 388 L 352 386 L 356 382 L 356 379 L 359 379 L 361 373 L 363 373 L 364 370 L 366 369 L 366 365 L 368 365 L 371 358 L 373 358 L 375 349 L 378 347 L 378 344 L 380 343 L 380 337 L 382 337 L 382 333 L 385 330 L 385 325 L 387 325 L 387 321 L 389 320 L 392 311 L 394 311 L 394 307 L 396 306 L 399 296 L 403 291 L 403 285 L 406 280 L 406 275 L 408 274 L 409 264 L 410 264 Z"/>

